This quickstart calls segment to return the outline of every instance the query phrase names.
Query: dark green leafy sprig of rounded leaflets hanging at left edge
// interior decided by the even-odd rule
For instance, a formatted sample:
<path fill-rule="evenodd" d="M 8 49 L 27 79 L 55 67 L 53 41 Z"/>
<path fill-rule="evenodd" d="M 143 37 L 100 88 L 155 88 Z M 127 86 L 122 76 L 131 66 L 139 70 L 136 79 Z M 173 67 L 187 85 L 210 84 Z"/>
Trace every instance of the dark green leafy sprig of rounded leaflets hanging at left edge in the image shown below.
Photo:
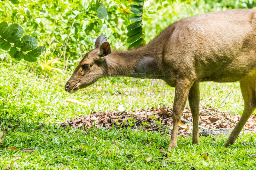
<path fill-rule="evenodd" d="M 35 62 L 37 60 L 36 57 L 39 57 L 43 51 L 46 51 L 44 46 L 36 48 L 37 40 L 35 37 L 30 35 L 22 37 L 23 29 L 18 24 L 12 24 L 8 27 L 7 22 L 1 22 L 0 35 L 0 48 L 5 51 L 11 48 L 9 54 L 17 60 L 24 58 L 25 61 Z"/>

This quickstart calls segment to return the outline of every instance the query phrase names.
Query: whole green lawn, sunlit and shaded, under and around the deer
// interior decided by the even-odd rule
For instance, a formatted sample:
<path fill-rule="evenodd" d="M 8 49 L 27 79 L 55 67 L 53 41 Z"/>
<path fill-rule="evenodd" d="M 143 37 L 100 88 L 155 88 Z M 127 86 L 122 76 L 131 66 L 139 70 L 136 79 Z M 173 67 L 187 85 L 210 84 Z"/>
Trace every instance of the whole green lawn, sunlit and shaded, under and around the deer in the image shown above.
<path fill-rule="evenodd" d="M 169 136 L 160 136 L 158 133 L 100 128 L 95 131 L 88 129 L 93 132 L 85 134 L 79 129 L 63 129 L 57 122 L 87 115 L 92 109 L 111 111 L 122 105 L 129 111 L 153 107 L 159 103 L 172 104 L 175 89 L 164 85 L 163 82 L 162 86 L 151 85 L 152 81 L 146 79 L 143 82 L 144 86 L 134 86 L 133 78 L 112 78 L 102 80 L 99 84 L 74 94 L 68 94 L 63 86 L 72 74 L 73 68 L 66 76 L 58 72 L 41 75 L 35 72 L 35 69 L 31 69 L 32 66 L 36 67 L 28 63 L 10 63 L 10 60 L 0 63 L 0 130 L 5 129 L 4 124 L 18 127 L 10 128 L 8 134 L 4 135 L 3 148 L 0 149 L 0 168 L 12 164 L 12 160 L 17 156 L 21 156 L 21 159 L 16 161 L 20 169 L 59 169 L 61 165 L 67 169 L 190 169 L 191 166 L 196 169 L 256 168 L 256 159 L 245 155 L 256 153 L 255 134 L 242 133 L 230 149 L 223 147 L 227 136 L 219 136 L 215 141 L 211 136 L 200 137 L 201 144 L 198 146 L 192 145 L 191 138 L 179 137 L 178 148 L 169 151 Z M 141 89 L 146 92 L 140 95 L 127 95 L 127 92 Z M 243 111 L 242 95 L 237 82 L 205 82 L 201 83 L 200 91 L 201 106 L 219 106 L 231 91 L 225 100 L 225 107 L 221 109 L 237 111 L 238 114 Z M 160 95 L 146 95 L 150 92 Z M 86 106 L 68 104 L 64 102 L 67 98 L 92 103 L 87 103 Z M 15 122 L 13 119 L 20 121 Z M 39 129 L 40 124 L 36 124 L 38 122 L 45 122 L 42 129 Z M 123 138 L 116 139 L 120 136 Z M 99 140 L 95 140 L 94 137 Z M 48 142 L 45 142 L 46 140 Z M 151 145 L 148 145 L 149 141 Z M 251 145 L 244 146 L 239 142 L 251 142 Z M 6 150 L 10 146 L 18 150 Z M 159 153 L 161 147 L 168 152 L 169 159 L 158 158 L 164 154 Z M 21 152 L 23 148 L 32 148 L 35 152 Z M 79 149 L 81 152 L 78 152 Z M 108 155 L 108 152 L 111 154 Z M 210 160 L 205 159 L 203 154 Z M 152 160 L 162 162 L 143 161 L 150 156 Z M 166 161 L 189 164 L 167 164 Z M 166 167 L 161 167 L 163 163 Z"/>

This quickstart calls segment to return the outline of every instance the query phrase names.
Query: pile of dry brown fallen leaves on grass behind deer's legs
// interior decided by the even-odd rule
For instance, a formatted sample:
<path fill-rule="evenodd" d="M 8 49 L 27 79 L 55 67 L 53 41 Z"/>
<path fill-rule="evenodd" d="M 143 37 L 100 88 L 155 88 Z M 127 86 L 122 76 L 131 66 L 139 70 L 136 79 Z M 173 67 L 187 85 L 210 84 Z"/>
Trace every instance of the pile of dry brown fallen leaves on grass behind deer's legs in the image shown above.
<path fill-rule="evenodd" d="M 172 107 L 159 105 L 148 109 L 125 111 L 124 107 L 119 106 L 115 111 L 92 111 L 89 115 L 66 119 L 60 122 L 61 127 L 71 126 L 73 128 L 88 129 L 91 127 L 116 128 L 132 127 L 147 131 L 161 131 L 162 134 L 167 131 L 167 135 L 172 133 Z M 201 136 L 227 135 L 235 127 L 241 115 L 234 115 L 227 111 L 218 111 L 221 107 L 201 107 L 199 113 L 199 132 Z M 187 138 L 192 135 L 192 114 L 187 106 L 183 111 L 179 123 L 179 135 Z M 244 126 L 245 132 L 256 132 L 256 114 L 252 115 Z M 83 131 L 90 133 L 88 131 Z M 97 139 L 95 139 L 97 140 Z"/>

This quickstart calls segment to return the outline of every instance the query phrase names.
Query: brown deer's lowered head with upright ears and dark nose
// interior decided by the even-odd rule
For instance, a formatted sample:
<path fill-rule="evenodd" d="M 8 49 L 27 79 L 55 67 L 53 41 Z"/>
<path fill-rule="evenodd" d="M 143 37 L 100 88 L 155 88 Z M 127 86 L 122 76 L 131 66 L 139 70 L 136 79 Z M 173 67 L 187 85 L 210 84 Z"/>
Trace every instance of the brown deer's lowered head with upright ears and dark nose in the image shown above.
<path fill-rule="evenodd" d="M 95 48 L 84 55 L 76 70 L 65 85 L 65 91 L 74 93 L 95 83 L 100 77 L 106 74 L 107 64 L 105 58 L 110 55 L 111 48 L 105 35 L 100 35 Z"/>

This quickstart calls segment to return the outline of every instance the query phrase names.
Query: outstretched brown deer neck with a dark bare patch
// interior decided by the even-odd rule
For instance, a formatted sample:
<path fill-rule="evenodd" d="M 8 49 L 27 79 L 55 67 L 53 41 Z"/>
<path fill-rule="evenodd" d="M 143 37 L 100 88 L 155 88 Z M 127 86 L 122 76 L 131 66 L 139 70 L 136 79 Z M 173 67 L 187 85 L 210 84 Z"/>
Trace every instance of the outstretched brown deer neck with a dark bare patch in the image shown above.
<path fill-rule="evenodd" d="M 157 69 L 155 56 L 150 55 L 145 47 L 133 51 L 114 51 L 105 61 L 108 76 L 154 78 L 152 75 L 161 74 Z"/>

